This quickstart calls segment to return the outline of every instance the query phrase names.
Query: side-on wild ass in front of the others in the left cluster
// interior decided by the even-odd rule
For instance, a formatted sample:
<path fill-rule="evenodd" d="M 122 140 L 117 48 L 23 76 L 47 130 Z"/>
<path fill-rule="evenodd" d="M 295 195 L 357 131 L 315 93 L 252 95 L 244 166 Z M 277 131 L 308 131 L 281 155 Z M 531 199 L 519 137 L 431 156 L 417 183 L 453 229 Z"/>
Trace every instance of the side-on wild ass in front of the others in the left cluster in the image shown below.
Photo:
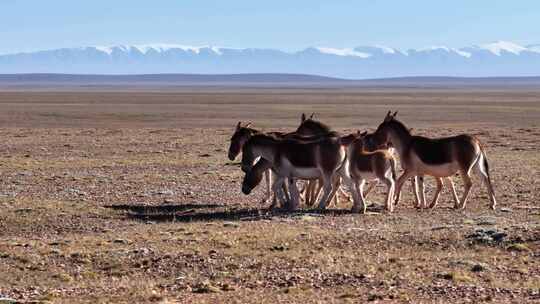
<path fill-rule="evenodd" d="M 250 172 L 254 160 L 259 157 L 270 162 L 277 176 L 273 185 L 274 192 L 281 199 L 284 199 L 281 187 L 286 179 L 289 180 L 292 210 L 298 207 L 300 195 L 295 179 L 322 179 L 323 195 L 319 208 L 324 209 L 340 176 L 352 189 L 350 176 L 341 172 L 346 160 L 346 144 L 336 133 L 312 139 L 282 139 L 257 134 L 244 144 L 242 170 Z"/>

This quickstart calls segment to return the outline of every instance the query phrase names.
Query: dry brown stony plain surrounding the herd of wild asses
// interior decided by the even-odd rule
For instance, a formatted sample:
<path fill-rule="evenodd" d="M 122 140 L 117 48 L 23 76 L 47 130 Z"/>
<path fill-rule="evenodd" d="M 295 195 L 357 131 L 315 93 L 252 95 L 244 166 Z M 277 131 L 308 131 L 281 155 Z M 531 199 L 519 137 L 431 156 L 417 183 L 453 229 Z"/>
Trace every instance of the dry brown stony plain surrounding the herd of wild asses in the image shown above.
<path fill-rule="evenodd" d="M 347 133 L 388 110 L 477 135 L 467 209 L 269 212 L 227 159 L 238 121 Z M 0 295 L 51 303 L 538 303 L 540 89 L 183 87 L 0 92 Z M 458 193 L 461 180 L 455 177 Z M 431 198 L 434 181 L 426 180 Z M 384 188 L 369 201 L 382 204 Z"/>

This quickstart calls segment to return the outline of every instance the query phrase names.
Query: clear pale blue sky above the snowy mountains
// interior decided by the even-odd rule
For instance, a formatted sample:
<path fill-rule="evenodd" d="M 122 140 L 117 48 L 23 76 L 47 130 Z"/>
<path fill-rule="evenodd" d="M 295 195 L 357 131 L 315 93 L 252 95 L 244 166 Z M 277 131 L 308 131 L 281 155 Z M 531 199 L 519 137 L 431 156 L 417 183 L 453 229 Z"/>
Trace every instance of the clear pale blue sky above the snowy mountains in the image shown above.
<path fill-rule="evenodd" d="M 0 0 L 0 53 L 176 43 L 298 50 L 540 43 L 538 0 Z"/>

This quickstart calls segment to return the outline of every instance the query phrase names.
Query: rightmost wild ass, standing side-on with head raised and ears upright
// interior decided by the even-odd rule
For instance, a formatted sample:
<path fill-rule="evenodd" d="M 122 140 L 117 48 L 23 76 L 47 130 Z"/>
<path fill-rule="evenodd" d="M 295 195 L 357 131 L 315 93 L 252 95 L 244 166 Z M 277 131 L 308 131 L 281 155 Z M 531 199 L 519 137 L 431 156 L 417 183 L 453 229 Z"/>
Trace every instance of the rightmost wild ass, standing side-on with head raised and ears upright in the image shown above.
<path fill-rule="evenodd" d="M 434 207 L 442 189 L 440 178 L 450 177 L 459 172 L 464 183 L 464 193 L 455 208 L 464 209 L 467 204 L 472 181 L 471 174 L 474 170 L 482 179 L 489 193 L 491 208 L 495 209 L 497 201 L 489 175 L 489 165 L 486 153 L 480 141 L 469 134 L 462 134 L 444 138 L 427 138 L 411 135 L 409 129 L 398 121 L 397 112 L 388 112 L 384 121 L 375 131 L 375 137 L 379 143 L 390 143 L 397 150 L 402 167 L 405 172 L 399 177 L 396 187 L 396 204 L 400 198 L 403 183 L 416 176 L 431 175 L 437 179 L 437 191 L 430 207 Z M 451 182 L 451 179 L 449 179 Z M 423 192 L 423 183 L 420 182 L 420 191 Z M 453 183 L 450 183 L 454 197 L 457 198 Z M 425 198 L 418 198 L 425 207 Z"/>

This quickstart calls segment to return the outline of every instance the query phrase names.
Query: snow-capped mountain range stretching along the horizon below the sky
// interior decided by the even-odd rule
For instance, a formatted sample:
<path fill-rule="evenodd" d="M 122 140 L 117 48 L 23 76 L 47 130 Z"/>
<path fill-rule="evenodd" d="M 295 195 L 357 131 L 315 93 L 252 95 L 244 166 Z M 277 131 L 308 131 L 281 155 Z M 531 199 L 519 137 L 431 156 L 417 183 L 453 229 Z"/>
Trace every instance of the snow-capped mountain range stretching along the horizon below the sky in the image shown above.
<path fill-rule="evenodd" d="M 540 45 L 499 41 L 464 48 L 310 47 L 297 52 L 175 44 L 65 48 L 0 55 L 0 74 L 297 73 L 363 79 L 538 76 Z"/>

